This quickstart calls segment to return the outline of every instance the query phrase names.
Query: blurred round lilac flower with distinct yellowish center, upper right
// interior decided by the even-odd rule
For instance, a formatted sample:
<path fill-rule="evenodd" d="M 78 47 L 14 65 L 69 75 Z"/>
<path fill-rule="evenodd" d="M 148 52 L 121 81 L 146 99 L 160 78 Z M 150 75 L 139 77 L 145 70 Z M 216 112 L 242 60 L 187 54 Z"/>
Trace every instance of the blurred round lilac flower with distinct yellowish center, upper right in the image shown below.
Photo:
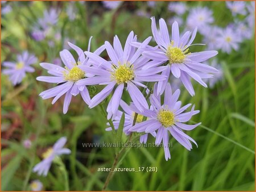
<path fill-rule="evenodd" d="M 230 53 L 232 49 L 238 50 L 241 36 L 237 34 L 233 27 L 222 29 L 220 35 L 216 39 L 217 48 L 222 52 Z"/>

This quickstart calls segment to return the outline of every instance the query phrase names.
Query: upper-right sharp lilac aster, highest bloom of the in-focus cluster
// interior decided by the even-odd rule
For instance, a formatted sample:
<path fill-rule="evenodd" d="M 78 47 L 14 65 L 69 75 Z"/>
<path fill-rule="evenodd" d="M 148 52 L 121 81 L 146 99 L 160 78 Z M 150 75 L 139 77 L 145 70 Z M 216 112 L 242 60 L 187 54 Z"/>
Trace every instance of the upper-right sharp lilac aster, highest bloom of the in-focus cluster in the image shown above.
<path fill-rule="evenodd" d="M 172 24 L 172 38 L 170 40 L 169 32 L 166 22 L 163 19 L 159 20 L 160 33 L 156 28 L 155 18 L 152 17 L 152 34 L 155 41 L 160 47 L 159 49 L 147 48 L 144 49 L 142 55 L 148 57 L 153 61 L 159 61 L 159 64 L 168 62 L 167 69 L 162 72 L 162 75 L 169 77 L 172 73 L 176 78 L 180 78 L 183 85 L 188 90 L 189 94 L 195 95 L 195 91 L 191 84 L 190 78 L 193 78 L 199 84 L 207 87 L 202 78 L 212 77 L 213 72 L 217 72 L 211 66 L 202 64 L 201 62 L 208 60 L 210 57 L 216 56 L 217 51 L 202 51 L 189 53 L 189 47 L 192 45 L 196 36 L 195 29 L 192 33 L 187 31 L 183 36 L 179 35 L 179 26 L 177 22 Z M 190 38 L 191 37 L 191 38 Z M 189 40 L 190 38 L 190 40 Z M 162 94 L 168 82 L 160 81 L 158 84 L 157 92 Z"/>

